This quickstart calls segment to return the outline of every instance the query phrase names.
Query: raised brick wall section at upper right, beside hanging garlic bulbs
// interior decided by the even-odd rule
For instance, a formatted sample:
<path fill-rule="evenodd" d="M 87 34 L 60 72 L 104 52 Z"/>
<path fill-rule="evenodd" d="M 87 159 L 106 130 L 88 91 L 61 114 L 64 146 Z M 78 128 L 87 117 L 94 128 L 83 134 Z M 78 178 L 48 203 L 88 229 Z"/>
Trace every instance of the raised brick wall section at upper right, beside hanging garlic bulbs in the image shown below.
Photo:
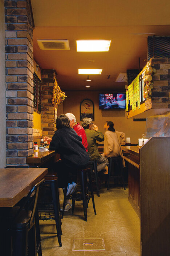
<path fill-rule="evenodd" d="M 145 101 L 146 109 L 170 108 L 170 58 L 153 58 L 151 64 L 157 69 L 153 75 L 154 87 L 151 99 Z"/>

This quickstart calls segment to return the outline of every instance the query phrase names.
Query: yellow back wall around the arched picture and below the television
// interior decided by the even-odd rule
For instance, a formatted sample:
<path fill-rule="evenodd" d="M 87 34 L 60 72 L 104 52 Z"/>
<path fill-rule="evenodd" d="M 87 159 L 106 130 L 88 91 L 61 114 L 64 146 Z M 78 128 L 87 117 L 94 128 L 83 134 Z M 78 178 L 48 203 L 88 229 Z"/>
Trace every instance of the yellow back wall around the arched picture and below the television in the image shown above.
<path fill-rule="evenodd" d="M 98 109 L 98 93 L 88 91 L 67 91 L 66 99 L 63 102 L 62 113 L 73 113 L 76 116 L 77 122 L 80 119 L 80 102 L 85 98 L 89 98 L 94 102 L 94 124 L 98 126 L 101 132 L 105 132 L 103 129 L 106 121 L 112 121 L 114 128 L 117 131 L 125 132 L 126 137 L 130 137 L 131 143 L 138 143 L 138 138 L 142 137 L 145 132 L 145 121 L 134 122 L 133 119 L 127 119 L 126 112 L 123 109 L 115 110 L 100 110 Z M 62 108 L 62 106 L 61 106 Z M 61 112 L 61 110 L 60 110 Z M 57 115 L 59 111 L 57 112 Z M 61 113 L 60 113 L 61 114 Z"/>

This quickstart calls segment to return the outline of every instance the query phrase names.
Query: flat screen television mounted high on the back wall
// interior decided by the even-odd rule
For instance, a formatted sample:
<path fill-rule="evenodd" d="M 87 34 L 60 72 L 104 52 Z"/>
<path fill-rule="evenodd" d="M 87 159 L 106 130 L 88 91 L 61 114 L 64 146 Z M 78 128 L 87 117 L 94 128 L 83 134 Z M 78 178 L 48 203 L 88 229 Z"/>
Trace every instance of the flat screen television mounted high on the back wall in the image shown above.
<path fill-rule="evenodd" d="M 99 109 L 125 109 L 126 93 L 99 93 Z"/>

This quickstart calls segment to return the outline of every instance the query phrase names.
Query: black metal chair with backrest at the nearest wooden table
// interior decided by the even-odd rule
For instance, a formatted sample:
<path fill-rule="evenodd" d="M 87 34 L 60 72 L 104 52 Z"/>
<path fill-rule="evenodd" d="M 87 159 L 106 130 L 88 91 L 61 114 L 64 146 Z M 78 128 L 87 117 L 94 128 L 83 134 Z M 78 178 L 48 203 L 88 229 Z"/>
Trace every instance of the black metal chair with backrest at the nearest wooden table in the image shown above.
<path fill-rule="evenodd" d="M 13 256 L 27 256 L 27 248 L 28 256 L 36 256 L 37 253 L 42 256 L 37 202 L 44 181 L 45 179 L 42 179 L 31 189 L 19 209 L 13 207 L 9 212 L 9 218 L 12 216 L 12 220 L 8 222 L 8 232 L 12 236 Z M 28 210 L 27 207 L 24 207 L 29 202 L 31 195 L 33 195 L 31 199 L 33 205 L 32 210 Z"/>

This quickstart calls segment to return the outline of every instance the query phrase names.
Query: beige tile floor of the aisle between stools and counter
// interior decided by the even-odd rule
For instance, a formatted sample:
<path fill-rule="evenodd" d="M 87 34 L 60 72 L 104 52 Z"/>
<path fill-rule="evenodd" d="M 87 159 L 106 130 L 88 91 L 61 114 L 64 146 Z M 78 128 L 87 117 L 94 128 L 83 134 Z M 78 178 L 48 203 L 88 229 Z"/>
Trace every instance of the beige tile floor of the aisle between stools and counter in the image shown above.
<path fill-rule="evenodd" d="M 76 202 L 74 215 L 71 210 L 62 220 L 62 247 L 59 247 L 54 221 L 41 221 L 41 240 L 43 256 L 109 255 L 139 256 L 139 218 L 128 201 L 128 188 L 102 187 L 100 197 L 94 195 L 96 212 L 92 200 L 88 208 L 88 221 L 84 221 L 81 202 Z M 72 251 L 74 238 L 104 238 L 106 251 Z"/>

